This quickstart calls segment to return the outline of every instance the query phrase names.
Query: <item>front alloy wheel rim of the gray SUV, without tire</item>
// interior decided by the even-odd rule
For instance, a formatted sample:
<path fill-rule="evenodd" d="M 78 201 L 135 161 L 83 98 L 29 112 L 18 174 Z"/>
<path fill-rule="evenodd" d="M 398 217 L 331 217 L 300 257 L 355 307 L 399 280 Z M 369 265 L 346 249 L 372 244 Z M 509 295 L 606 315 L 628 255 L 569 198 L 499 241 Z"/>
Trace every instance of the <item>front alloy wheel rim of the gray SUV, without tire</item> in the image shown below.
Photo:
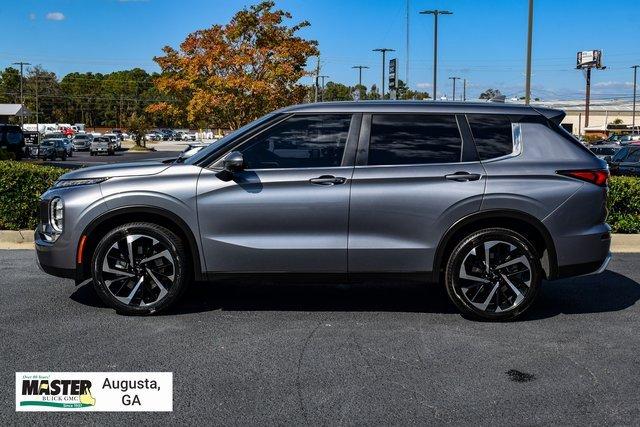
<path fill-rule="evenodd" d="M 99 266 L 107 290 L 130 306 L 161 301 L 176 278 L 176 262 L 169 247 L 144 234 L 121 237 L 109 247 Z"/>

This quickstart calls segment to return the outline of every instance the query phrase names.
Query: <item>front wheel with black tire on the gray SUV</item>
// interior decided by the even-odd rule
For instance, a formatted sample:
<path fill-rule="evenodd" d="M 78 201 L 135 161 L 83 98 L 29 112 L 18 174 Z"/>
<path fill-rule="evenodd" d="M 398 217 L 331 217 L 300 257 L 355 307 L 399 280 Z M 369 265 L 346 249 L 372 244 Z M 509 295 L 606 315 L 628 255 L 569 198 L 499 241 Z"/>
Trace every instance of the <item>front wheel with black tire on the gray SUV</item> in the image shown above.
<path fill-rule="evenodd" d="M 122 314 L 148 315 L 167 309 L 184 293 L 187 265 L 187 252 L 175 233 L 136 222 L 116 227 L 100 240 L 91 273 L 96 293 L 108 306 Z"/>

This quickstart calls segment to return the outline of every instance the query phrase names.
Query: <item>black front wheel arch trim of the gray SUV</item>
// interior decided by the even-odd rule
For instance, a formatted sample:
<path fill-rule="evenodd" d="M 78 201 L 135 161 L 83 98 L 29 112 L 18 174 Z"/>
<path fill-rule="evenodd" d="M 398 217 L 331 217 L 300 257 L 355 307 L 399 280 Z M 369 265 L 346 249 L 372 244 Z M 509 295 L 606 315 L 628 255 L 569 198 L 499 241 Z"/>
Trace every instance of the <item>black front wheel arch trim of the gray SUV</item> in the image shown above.
<path fill-rule="evenodd" d="M 189 226 L 173 212 L 155 206 L 124 206 L 109 210 L 89 223 L 80 235 L 76 248 L 76 283 L 91 277 L 91 258 L 100 239 L 111 229 L 129 222 L 150 222 L 166 227 L 181 237 L 191 257 L 195 280 L 206 280 L 196 237 Z M 83 241 L 84 240 L 84 241 Z"/>

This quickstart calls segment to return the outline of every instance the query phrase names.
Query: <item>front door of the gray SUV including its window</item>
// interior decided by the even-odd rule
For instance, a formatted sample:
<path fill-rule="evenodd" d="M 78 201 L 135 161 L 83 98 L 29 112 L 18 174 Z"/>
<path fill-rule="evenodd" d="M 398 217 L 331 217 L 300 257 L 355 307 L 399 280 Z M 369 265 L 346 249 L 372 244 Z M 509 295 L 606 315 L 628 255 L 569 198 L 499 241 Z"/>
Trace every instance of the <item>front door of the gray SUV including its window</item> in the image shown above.
<path fill-rule="evenodd" d="M 215 168 L 202 172 L 198 217 L 208 271 L 347 271 L 351 121 L 350 114 L 293 115 L 235 148 L 245 169 L 233 179 Z"/>

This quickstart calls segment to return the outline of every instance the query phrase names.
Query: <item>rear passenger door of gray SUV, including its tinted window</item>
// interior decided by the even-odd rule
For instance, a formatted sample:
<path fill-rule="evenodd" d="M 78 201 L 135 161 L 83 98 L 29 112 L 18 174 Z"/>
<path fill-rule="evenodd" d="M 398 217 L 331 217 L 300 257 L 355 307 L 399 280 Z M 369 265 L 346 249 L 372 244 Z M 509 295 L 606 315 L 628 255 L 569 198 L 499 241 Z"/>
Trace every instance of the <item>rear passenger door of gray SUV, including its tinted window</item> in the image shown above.
<path fill-rule="evenodd" d="M 432 270 L 443 233 L 480 209 L 484 169 L 468 135 L 464 115 L 363 117 L 351 185 L 351 273 Z"/>

